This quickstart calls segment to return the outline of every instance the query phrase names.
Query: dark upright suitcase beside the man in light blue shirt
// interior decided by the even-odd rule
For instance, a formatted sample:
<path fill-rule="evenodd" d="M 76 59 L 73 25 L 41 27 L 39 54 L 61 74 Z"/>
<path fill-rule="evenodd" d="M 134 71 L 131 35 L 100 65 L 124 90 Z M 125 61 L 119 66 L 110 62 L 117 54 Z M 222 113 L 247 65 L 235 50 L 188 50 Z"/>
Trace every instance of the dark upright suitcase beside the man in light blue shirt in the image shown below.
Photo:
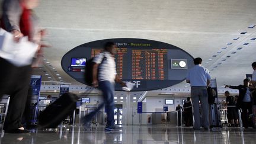
<path fill-rule="evenodd" d="M 209 105 L 210 112 L 210 130 L 212 131 L 221 131 L 222 124 L 220 121 L 220 108 L 218 104 L 210 104 Z"/>

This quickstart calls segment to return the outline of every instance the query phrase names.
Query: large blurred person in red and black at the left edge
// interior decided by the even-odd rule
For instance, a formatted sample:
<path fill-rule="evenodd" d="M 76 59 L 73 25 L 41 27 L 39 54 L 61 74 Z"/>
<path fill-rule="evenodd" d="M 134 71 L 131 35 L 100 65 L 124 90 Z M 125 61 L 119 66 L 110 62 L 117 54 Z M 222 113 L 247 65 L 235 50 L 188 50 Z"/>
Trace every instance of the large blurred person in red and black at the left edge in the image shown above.
<path fill-rule="evenodd" d="M 28 36 L 29 41 L 39 44 L 36 56 L 41 58 L 40 39 L 44 31 L 39 28 L 37 17 L 33 12 L 38 5 L 39 0 L 4 0 L 1 28 L 12 33 L 16 42 L 21 37 Z M 32 63 L 15 66 L 0 57 L 0 97 L 4 94 L 10 95 L 8 113 L 4 123 L 4 130 L 7 133 L 28 132 L 21 121 L 27 101 L 31 65 Z"/>

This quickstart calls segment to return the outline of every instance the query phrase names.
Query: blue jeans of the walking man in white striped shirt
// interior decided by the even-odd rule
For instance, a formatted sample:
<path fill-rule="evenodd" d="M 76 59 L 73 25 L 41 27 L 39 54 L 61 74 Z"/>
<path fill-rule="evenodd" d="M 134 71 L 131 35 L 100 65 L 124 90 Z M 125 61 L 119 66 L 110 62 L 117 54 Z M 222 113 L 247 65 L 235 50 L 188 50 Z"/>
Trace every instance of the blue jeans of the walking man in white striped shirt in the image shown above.
<path fill-rule="evenodd" d="M 107 125 L 106 127 L 114 126 L 114 84 L 110 81 L 99 82 L 99 88 L 103 92 L 104 103 L 100 104 L 97 110 L 92 111 L 87 116 L 85 116 L 86 121 L 91 121 L 92 117 L 103 108 L 105 105 L 105 110 L 107 113 Z"/>

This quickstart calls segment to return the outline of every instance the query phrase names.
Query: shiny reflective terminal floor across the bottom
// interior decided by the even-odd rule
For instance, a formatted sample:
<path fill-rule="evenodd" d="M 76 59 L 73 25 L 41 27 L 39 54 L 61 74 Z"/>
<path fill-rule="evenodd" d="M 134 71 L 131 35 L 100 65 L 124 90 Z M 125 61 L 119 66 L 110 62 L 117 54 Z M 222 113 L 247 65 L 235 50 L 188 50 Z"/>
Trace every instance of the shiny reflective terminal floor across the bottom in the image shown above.
<path fill-rule="evenodd" d="M 222 132 L 196 131 L 187 127 L 124 126 L 123 132 L 105 132 L 104 126 L 34 130 L 27 134 L 2 133 L 1 143 L 256 143 L 255 129 L 226 128 Z"/>

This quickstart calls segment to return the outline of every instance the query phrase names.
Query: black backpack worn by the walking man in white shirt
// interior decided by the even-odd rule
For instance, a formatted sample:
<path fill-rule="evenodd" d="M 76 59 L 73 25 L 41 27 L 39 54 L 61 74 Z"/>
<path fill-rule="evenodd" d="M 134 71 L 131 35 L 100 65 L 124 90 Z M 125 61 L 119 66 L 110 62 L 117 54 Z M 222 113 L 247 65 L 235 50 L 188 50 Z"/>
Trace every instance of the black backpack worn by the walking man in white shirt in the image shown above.
<path fill-rule="evenodd" d="M 103 60 L 106 60 L 107 57 L 103 57 Z M 92 57 L 91 59 L 89 59 L 86 62 L 86 66 L 85 66 L 85 82 L 87 85 L 92 86 L 92 67 L 94 66 L 95 62 L 93 62 L 94 57 Z M 101 63 L 103 63 L 103 60 L 101 61 Z M 100 64 L 101 65 L 101 64 Z"/>

